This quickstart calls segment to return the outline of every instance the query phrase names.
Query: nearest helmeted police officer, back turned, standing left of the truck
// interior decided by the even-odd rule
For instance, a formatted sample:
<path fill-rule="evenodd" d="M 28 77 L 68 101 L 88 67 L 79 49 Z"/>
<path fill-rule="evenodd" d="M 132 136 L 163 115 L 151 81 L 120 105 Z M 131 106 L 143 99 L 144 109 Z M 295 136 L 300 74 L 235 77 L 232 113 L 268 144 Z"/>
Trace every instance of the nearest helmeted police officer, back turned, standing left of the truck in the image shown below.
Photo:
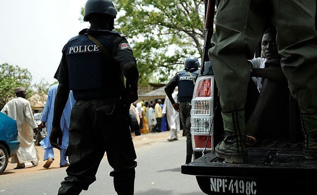
<path fill-rule="evenodd" d="M 134 194 L 137 162 L 127 113 L 130 103 L 138 99 L 139 72 L 125 36 L 112 31 L 116 15 L 111 0 L 88 0 L 84 21 L 91 27 L 80 31 L 62 50 L 50 136 L 55 148 L 60 149 L 60 117 L 70 90 L 76 102 L 69 128 L 70 166 L 59 195 L 88 190 L 105 152 L 114 169 L 110 176 L 118 195 Z"/>

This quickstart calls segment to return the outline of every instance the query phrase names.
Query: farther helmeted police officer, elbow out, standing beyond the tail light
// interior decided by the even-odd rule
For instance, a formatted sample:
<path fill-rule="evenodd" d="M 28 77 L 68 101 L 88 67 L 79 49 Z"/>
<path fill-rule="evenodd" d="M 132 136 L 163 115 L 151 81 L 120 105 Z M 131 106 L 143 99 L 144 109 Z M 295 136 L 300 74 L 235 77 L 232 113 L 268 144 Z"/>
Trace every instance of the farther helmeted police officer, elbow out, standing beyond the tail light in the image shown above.
<path fill-rule="evenodd" d="M 192 161 L 193 147 L 192 135 L 190 133 L 190 111 L 192 109 L 191 100 L 193 98 L 196 78 L 199 75 L 200 67 L 198 58 L 190 56 L 185 59 L 185 69 L 179 71 L 165 86 L 165 93 L 170 99 L 173 108 L 179 112 L 183 131 L 186 135 L 186 164 Z M 178 86 L 178 101 L 176 103 L 172 97 L 174 89 Z"/>

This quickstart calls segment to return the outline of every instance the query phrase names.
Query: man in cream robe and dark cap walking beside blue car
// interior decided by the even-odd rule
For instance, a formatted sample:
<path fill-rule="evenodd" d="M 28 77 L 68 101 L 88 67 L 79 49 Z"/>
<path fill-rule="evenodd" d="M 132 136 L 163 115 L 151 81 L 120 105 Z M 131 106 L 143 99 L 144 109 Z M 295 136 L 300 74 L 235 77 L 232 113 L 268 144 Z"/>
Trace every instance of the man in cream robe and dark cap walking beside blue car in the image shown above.
<path fill-rule="evenodd" d="M 15 94 L 17 98 L 8 101 L 1 112 L 17 122 L 20 148 L 12 156 L 11 163 L 18 163 L 15 169 L 23 169 L 26 162 L 32 162 L 35 166 L 39 163 L 39 154 L 33 141 L 33 132 L 38 130 L 38 125 L 33 117 L 31 103 L 25 99 L 25 87 L 16 89 Z"/>

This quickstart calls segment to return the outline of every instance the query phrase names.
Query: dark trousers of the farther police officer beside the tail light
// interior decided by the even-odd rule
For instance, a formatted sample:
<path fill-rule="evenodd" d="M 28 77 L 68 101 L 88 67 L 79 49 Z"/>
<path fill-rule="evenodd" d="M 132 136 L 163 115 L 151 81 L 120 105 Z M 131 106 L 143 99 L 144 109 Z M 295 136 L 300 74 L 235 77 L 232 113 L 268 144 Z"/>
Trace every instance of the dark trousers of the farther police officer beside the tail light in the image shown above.
<path fill-rule="evenodd" d="M 192 134 L 190 133 L 191 109 L 192 109 L 192 105 L 190 104 L 189 101 L 179 103 L 180 121 L 182 123 L 183 131 L 185 131 L 185 136 L 186 136 L 186 164 L 192 161 L 192 156 L 193 156 Z"/>

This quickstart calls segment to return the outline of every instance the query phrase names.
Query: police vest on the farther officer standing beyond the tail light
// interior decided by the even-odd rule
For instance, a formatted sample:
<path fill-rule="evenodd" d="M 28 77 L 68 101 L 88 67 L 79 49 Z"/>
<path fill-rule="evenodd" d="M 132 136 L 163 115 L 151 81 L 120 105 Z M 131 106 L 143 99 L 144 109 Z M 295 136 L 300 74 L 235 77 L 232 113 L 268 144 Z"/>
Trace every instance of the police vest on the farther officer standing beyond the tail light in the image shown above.
<path fill-rule="evenodd" d="M 193 78 L 196 80 L 199 70 L 191 72 Z M 178 101 L 191 101 L 194 93 L 194 82 L 187 71 L 181 70 L 178 73 Z"/>

